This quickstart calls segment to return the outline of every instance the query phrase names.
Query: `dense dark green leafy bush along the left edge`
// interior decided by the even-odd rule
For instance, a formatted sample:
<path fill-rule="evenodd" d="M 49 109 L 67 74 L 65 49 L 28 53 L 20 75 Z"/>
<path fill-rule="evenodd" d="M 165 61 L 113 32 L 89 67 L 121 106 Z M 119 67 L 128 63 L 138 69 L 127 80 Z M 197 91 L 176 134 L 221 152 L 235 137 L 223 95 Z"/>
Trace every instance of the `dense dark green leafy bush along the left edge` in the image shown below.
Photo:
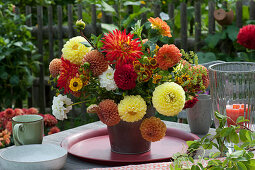
<path fill-rule="evenodd" d="M 11 4 L 0 3 L 0 108 L 12 107 L 29 93 L 33 82 L 32 71 L 38 67 L 30 28 L 25 25 L 28 17 L 15 15 Z M 31 57 L 28 57 L 31 56 Z"/>

